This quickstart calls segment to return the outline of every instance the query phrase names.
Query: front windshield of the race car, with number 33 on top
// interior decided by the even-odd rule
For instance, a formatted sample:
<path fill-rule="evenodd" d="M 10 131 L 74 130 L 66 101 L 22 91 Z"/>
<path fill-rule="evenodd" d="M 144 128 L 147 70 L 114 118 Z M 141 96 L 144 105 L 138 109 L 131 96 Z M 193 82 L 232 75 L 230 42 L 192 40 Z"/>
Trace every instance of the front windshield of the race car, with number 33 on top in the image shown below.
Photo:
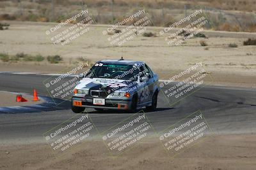
<path fill-rule="evenodd" d="M 86 77 L 128 80 L 134 78 L 136 74 L 138 74 L 138 67 L 133 65 L 96 63 Z"/>

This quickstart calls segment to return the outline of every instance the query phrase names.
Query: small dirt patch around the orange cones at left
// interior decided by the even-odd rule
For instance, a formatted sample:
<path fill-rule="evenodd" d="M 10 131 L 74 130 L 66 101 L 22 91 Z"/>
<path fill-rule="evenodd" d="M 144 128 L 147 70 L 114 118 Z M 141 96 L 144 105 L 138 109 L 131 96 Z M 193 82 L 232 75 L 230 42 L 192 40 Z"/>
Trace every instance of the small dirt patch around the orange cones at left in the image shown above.
<path fill-rule="evenodd" d="M 44 103 L 44 100 L 40 98 L 40 101 L 33 101 L 33 96 L 29 96 L 26 94 L 21 94 L 24 99 L 28 100 L 27 102 L 16 102 L 17 93 L 12 92 L 1 92 L 0 91 L 0 107 L 8 107 L 8 106 L 30 106 L 34 104 Z"/>

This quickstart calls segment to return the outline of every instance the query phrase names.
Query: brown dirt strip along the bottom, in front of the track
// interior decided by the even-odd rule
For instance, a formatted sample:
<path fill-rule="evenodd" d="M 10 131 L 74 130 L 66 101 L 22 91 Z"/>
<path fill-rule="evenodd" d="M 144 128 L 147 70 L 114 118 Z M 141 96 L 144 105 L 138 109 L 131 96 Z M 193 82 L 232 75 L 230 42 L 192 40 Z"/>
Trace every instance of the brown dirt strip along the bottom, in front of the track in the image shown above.
<path fill-rule="evenodd" d="M 255 139 L 255 134 L 215 135 L 173 158 L 154 138 L 119 157 L 99 140 L 84 141 L 60 157 L 45 144 L 4 145 L 0 169 L 255 169 Z"/>

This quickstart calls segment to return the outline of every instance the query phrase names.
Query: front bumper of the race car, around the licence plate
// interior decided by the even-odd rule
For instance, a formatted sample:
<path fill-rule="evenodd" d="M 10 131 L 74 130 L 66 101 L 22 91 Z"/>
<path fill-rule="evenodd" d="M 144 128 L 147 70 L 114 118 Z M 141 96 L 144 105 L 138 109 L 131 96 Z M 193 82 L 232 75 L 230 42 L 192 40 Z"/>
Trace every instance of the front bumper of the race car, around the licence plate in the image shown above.
<path fill-rule="evenodd" d="M 87 97 L 72 97 L 72 104 L 74 101 L 81 101 L 82 105 L 79 107 L 83 108 L 100 108 L 109 110 L 130 110 L 132 99 L 105 99 L 104 105 L 93 104 L 93 98 Z"/>

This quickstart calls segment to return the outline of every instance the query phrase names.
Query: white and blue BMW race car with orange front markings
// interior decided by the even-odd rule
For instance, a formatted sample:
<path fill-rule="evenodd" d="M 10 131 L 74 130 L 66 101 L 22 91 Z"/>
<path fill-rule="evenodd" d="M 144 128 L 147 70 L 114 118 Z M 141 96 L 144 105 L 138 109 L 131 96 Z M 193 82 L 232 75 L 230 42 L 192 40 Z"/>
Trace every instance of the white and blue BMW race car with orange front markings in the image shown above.
<path fill-rule="evenodd" d="M 145 62 L 100 60 L 81 75 L 74 89 L 72 111 L 85 108 L 101 110 L 156 110 L 158 76 Z"/>

